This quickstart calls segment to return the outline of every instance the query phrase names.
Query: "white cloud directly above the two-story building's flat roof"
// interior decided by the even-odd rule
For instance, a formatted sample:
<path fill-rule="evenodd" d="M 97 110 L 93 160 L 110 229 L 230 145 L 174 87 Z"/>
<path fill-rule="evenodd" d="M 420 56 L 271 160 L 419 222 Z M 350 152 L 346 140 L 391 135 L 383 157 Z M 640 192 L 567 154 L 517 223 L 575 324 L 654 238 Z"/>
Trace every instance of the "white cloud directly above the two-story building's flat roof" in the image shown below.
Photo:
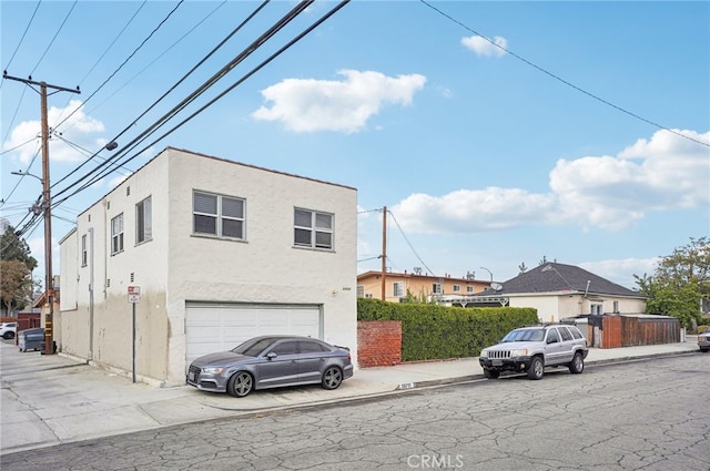
<path fill-rule="evenodd" d="M 343 70 L 345 80 L 286 79 L 262 90 L 271 106 L 252 116 L 281 121 L 294 132 L 362 131 L 385 104 L 412 104 L 426 78 L 419 74 L 386 76 L 379 72 Z"/>

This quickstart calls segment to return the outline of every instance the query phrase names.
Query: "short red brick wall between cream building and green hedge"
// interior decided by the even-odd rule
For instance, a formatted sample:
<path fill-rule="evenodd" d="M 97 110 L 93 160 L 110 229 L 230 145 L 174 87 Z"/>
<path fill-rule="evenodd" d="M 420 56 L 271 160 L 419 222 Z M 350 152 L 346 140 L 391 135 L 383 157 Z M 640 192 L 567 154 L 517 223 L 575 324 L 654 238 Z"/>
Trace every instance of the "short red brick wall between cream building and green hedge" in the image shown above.
<path fill-rule="evenodd" d="M 402 362 L 402 321 L 358 321 L 357 362 L 361 368 L 399 365 Z"/>

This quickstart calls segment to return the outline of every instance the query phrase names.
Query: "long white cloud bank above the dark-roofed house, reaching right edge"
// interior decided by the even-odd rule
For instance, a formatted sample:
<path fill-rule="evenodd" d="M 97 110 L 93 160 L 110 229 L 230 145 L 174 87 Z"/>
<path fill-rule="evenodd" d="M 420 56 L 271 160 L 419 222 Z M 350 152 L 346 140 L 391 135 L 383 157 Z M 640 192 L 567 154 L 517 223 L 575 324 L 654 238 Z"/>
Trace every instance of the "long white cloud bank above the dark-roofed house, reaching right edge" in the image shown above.
<path fill-rule="evenodd" d="M 710 132 L 679 132 L 710 141 Z M 708 147 L 668 131 L 617 156 L 559 160 L 549 175 L 547 194 L 499 187 L 413 194 L 392 211 L 409 232 L 471 234 L 538 224 L 619 231 L 651 211 L 710 206 Z"/>

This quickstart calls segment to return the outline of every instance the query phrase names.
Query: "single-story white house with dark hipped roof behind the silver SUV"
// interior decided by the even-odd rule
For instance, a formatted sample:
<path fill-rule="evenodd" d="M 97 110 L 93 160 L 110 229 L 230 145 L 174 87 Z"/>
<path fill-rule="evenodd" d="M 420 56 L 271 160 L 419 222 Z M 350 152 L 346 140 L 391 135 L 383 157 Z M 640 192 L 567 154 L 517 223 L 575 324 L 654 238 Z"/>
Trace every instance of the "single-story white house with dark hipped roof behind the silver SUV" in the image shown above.
<path fill-rule="evenodd" d="M 580 315 L 642 314 L 646 299 L 574 265 L 546 263 L 477 295 L 474 306 L 534 307 L 541 321 Z"/>

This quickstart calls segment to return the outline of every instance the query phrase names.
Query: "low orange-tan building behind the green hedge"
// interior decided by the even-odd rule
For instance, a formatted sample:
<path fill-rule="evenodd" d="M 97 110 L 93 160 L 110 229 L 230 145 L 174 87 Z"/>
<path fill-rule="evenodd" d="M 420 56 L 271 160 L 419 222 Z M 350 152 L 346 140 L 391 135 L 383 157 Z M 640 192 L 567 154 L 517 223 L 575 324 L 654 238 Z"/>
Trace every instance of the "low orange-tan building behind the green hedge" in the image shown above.
<path fill-rule="evenodd" d="M 471 275 L 455 278 L 450 275 L 434 276 L 419 273 L 385 273 L 385 299 L 405 303 L 408 296 L 427 301 L 440 299 L 464 299 L 480 293 L 490 281 L 474 279 Z M 382 299 L 382 272 L 365 272 L 357 276 L 357 297 Z"/>

